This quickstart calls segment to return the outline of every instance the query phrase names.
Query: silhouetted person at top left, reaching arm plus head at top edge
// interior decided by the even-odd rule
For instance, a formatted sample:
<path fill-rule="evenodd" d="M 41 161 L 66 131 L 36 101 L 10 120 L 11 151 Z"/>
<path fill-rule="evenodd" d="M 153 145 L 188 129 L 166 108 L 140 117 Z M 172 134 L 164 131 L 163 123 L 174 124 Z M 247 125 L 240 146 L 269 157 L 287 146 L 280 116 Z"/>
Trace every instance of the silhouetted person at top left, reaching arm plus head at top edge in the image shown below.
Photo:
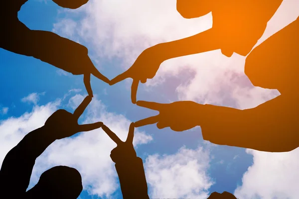
<path fill-rule="evenodd" d="M 94 66 L 88 49 L 53 32 L 31 30 L 17 18 L 17 12 L 27 0 L 4 0 L 0 18 L 0 48 L 20 55 L 34 57 L 73 75 L 84 75 L 88 95 L 93 97 L 90 75 L 109 83 Z M 59 6 L 78 8 L 88 0 L 54 0 Z M 5 16 L 5 17 L 4 17 Z"/>

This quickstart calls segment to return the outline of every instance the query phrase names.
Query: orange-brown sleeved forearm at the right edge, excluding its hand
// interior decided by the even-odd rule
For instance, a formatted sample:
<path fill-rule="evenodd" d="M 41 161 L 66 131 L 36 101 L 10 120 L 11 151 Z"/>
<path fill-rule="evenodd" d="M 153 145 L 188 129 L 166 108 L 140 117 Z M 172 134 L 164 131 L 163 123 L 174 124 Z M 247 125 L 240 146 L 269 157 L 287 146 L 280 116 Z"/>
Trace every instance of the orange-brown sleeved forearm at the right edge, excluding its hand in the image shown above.
<path fill-rule="evenodd" d="M 298 147 L 299 126 L 292 107 L 282 107 L 274 99 L 252 109 L 205 105 L 203 139 L 214 144 L 286 152 Z M 200 121 L 199 121 L 200 122 Z"/>

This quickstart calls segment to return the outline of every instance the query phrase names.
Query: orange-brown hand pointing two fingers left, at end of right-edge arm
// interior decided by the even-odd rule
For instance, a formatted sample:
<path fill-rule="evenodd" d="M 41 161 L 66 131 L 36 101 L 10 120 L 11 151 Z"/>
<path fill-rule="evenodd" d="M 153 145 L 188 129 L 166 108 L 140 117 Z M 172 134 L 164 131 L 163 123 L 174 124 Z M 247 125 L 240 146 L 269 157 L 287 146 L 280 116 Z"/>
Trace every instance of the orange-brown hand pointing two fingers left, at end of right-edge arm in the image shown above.
<path fill-rule="evenodd" d="M 174 131 L 184 131 L 198 125 L 197 109 L 204 107 L 194 101 L 176 101 L 173 103 L 156 103 L 137 101 L 137 105 L 159 111 L 158 115 L 135 122 L 135 127 L 157 123 L 159 129 L 170 127 Z"/>

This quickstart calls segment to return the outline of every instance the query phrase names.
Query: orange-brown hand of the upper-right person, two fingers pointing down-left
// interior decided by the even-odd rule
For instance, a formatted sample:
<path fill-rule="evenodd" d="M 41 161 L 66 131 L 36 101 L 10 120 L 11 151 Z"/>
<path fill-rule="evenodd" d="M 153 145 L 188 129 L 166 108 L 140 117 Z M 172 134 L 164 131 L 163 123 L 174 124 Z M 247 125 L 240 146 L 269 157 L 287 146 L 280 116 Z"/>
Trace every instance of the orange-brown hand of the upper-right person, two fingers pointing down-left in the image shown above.
<path fill-rule="evenodd" d="M 159 56 L 158 51 L 156 51 L 153 47 L 144 50 L 131 68 L 115 77 L 109 83 L 110 85 L 114 85 L 127 78 L 132 78 L 131 99 L 133 103 L 136 103 L 139 82 L 146 83 L 147 79 L 153 78 L 161 63 L 164 61 L 161 59 L 161 56 Z"/>

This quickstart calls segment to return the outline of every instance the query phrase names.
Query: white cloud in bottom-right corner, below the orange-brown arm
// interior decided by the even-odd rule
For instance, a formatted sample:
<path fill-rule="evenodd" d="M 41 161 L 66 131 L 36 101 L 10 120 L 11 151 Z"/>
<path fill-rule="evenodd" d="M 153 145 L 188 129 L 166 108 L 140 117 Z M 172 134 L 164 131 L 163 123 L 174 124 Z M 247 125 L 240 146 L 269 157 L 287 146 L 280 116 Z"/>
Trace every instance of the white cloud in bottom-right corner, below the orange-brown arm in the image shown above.
<path fill-rule="evenodd" d="M 247 149 L 253 165 L 244 174 L 243 185 L 235 191 L 240 199 L 298 199 L 299 149 L 267 153 Z"/>

